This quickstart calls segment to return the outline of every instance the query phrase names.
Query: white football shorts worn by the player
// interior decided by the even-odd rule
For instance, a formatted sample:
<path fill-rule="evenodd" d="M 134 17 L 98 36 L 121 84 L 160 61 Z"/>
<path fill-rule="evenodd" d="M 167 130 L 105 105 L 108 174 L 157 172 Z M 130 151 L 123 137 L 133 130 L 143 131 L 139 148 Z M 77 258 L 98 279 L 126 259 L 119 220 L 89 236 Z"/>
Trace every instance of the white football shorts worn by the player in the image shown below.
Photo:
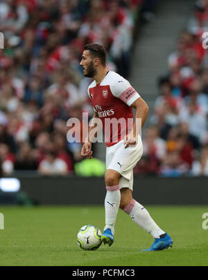
<path fill-rule="evenodd" d="M 138 136 L 137 145 L 128 146 L 126 149 L 124 147 L 123 140 L 106 147 L 106 169 L 115 170 L 122 175 L 119 182 L 120 188 L 133 190 L 133 168 L 143 153 L 141 136 Z"/>

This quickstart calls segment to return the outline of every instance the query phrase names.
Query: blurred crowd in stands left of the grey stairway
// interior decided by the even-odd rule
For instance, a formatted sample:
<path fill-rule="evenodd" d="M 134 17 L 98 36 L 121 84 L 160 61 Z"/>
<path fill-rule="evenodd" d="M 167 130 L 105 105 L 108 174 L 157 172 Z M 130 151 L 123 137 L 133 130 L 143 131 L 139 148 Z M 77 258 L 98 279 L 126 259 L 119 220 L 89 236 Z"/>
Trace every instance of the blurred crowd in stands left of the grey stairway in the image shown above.
<path fill-rule="evenodd" d="M 107 67 L 127 77 L 143 0 L 0 1 L 0 160 L 14 170 L 70 174 L 83 158 L 67 120 L 92 115 L 83 76 L 85 44 L 107 49 Z M 1 42 L 2 47 L 2 42 Z"/>

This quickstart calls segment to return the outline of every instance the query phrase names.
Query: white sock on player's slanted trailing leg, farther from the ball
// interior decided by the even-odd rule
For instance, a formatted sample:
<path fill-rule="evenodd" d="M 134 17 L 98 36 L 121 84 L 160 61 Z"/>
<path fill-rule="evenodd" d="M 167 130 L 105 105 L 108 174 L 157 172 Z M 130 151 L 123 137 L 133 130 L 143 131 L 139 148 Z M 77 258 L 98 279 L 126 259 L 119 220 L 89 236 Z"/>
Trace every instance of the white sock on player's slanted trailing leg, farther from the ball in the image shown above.
<path fill-rule="evenodd" d="M 150 214 L 142 206 L 139 204 L 139 202 L 135 201 L 135 199 L 132 199 L 130 204 L 123 209 L 125 213 L 130 215 L 132 218 L 132 221 L 138 224 L 139 227 L 150 233 L 153 238 L 159 238 L 162 234 L 165 233 L 165 231 L 162 231 L 157 224 L 154 222 L 154 220 L 150 217 Z"/>

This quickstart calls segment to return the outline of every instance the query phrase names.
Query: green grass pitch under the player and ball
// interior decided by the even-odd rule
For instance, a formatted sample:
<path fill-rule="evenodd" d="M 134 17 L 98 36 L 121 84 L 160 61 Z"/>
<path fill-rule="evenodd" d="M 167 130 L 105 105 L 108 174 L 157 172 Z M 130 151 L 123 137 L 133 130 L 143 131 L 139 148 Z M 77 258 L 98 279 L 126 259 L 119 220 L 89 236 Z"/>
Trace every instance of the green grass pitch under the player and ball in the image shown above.
<path fill-rule="evenodd" d="M 155 222 L 173 238 L 173 248 L 141 252 L 153 238 L 121 210 L 112 247 L 92 252 L 78 247 L 76 234 L 85 224 L 103 231 L 104 208 L 0 207 L 0 265 L 208 265 L 208 229 L 202 229 L 207 206 L 149 206 Z"/>

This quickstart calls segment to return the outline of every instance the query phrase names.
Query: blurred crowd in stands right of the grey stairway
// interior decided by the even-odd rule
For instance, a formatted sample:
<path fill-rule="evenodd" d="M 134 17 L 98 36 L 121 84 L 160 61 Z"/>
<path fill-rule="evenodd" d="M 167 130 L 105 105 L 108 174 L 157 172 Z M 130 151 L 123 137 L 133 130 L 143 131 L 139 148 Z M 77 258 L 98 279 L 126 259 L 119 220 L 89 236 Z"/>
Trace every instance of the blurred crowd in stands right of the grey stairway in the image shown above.
<path fill-rule="evenodd" d="M 202 46 L 207 31 L 208 1 L 199 0 L 168 57 L 168 74 L 159 79 L 135 174 L 208 176 L 208 51 Z"/>

